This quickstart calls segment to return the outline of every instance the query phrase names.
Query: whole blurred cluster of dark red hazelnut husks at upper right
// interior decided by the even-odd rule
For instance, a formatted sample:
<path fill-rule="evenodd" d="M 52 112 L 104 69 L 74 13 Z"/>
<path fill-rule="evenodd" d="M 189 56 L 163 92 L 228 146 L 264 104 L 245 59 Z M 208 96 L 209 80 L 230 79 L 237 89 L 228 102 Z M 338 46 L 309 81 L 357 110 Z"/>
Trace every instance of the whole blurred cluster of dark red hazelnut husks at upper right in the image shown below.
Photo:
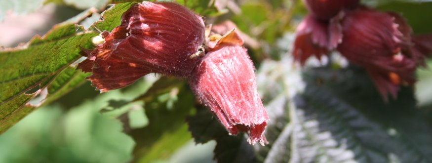
<path fill-rule="evenodd" d="M 302 65 L 337 50 L 363 67 L 385 101 L 416 81 L 417 66 L 432 51 L 432 35 L 413 36 L 404 18 L 360 5 L 359 0 L 304 0 L 310 14 L 297 27 L 294 59 Z"/>

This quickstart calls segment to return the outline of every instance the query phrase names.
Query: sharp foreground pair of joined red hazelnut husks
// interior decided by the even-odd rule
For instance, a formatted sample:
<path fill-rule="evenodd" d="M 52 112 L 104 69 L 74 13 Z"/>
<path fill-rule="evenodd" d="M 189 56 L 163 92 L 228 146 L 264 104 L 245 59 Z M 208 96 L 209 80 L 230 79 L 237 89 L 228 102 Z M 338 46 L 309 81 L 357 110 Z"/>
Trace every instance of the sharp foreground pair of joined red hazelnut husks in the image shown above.
<path fill-rule="evenodd" d="M 134 4 L 121 25 L 102 34 L 78 66 L 101 92 L 125 87 L 159 73 L 185 78 L 230 134 L 249 134 L 249 143 L 267 143 L 269 120 L 257 93 L 254 66 L 233 30 L 217 39 L 205 36 L 204 21 L 173 2 Z M 206 39 L 207 38 L 207 39 Z"/>

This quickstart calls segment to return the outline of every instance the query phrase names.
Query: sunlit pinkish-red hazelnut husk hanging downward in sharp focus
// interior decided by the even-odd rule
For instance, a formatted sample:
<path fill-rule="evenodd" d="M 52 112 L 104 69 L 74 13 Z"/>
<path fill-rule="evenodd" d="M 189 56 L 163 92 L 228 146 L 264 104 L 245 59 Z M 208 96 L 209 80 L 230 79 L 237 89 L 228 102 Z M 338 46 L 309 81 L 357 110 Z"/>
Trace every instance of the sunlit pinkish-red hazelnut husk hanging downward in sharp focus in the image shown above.
<path fill-rule="evenodd" d="M 248 142 L 266 144 L 269 120 L 257 92 L 254 66 L 231 31 L 202 57 L 189 79 L 191 88 L 230 134 L 247 132 Z"/>

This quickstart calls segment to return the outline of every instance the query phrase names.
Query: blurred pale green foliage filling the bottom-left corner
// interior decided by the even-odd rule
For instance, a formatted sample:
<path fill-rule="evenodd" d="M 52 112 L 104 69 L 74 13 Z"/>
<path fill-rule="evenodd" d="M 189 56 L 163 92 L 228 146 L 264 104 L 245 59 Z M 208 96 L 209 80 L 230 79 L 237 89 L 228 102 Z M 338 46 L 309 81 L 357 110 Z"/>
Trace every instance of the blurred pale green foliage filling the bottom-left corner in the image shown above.
<path fill-rule="evenodd" d="M 36 110 L 0 136 L 0 162 L 128 162 L 135 143 L 117 119 L 98 111 L 110 93 L 74 108 L 49 105 Z"/>

